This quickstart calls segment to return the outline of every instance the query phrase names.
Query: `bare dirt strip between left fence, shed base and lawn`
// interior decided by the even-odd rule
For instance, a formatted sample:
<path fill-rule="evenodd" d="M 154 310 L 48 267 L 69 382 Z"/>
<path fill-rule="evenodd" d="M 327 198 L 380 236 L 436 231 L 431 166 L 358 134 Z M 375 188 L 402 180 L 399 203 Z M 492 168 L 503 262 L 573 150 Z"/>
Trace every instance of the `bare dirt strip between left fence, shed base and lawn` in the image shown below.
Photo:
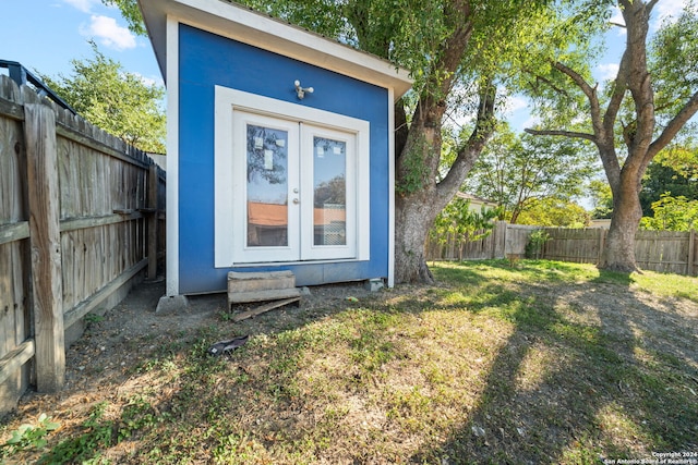
<path fill-rule="evenodd" d="M 189 297 L 190 308 L 177 314 L 156 314 L 159 298 L 165 295 L 165 283 L 142 283 L 104 317 L 88 318 L 91 322 L 83 336 L 65 353 L 65 389 L 56 395 L 28 392 L 21 401 L 20 413 L 32 416 L 71 408 L 71 403 L 93 403 L 105 399 L 104 386 L 123 386 L 135 366 L 152 354 L 173 344 L 190 344 L 196 334 L 209 332 L 224 338 L 269 333 L 302 323 L 309 316 L 324 316 L 327 308 L 350 306 L 353 298 L 375 295 L 361 283 L 314 286 L 304 293 L 300 306 L 270 310 L 264 317 L 246 320 L 244 326 L 233 323 L 231 316 L 254 308 L 238 305 L 228 310 L 227 294 Z M 116 394 L 116 393 L 112 393 Z"/>

